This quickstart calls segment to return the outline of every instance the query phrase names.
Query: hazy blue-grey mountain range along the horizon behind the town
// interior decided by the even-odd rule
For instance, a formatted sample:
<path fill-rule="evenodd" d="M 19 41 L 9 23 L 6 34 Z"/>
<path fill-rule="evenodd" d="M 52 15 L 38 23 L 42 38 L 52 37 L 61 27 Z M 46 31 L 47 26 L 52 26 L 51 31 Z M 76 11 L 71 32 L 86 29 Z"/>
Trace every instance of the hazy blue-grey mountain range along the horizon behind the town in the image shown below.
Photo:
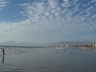
<path fill-rule="evenodd" d="M 0 45 L 10 45 L 10 46 L 42 46 L 42 45 L 66 45 L 66 44 L 92 44 L 94 42 L 91 41 L 60 41 L 60 42 L 54 42 L 54 43 L 28 43 L 26 41 L 24 42 L 15 42 L 15 41 L 7 41 L 7 42 L 2 42 Z"/>

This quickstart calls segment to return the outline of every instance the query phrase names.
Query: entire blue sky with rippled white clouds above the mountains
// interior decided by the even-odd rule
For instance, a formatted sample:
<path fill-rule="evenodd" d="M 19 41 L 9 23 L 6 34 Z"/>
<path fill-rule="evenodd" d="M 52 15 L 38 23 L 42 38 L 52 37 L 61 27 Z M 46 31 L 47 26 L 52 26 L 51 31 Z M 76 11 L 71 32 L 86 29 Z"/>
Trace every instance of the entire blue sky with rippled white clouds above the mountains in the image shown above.
<path fill-rule="evenodd" d="M 0 42 L 96 41 L 96 0 L 0 0 Z"/>

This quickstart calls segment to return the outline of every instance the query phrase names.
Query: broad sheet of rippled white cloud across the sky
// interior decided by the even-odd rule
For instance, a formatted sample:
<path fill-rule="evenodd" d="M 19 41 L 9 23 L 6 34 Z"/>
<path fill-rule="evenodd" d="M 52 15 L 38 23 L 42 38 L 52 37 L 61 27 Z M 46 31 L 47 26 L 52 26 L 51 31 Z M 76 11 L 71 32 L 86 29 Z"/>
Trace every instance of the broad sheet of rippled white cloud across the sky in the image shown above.
<path fill-rule="evenodd" d="M 94 2 L 96 3 L 95 0 Z M 96 5 L 92 3 L 93 1 L 84 4 L 79 0 L 45 0 L 19 4 L 24 9 L 20 13 L 27 18 L 19 22 L 0 23 L 0 32 L 22 37 L 96 31 Z"/>

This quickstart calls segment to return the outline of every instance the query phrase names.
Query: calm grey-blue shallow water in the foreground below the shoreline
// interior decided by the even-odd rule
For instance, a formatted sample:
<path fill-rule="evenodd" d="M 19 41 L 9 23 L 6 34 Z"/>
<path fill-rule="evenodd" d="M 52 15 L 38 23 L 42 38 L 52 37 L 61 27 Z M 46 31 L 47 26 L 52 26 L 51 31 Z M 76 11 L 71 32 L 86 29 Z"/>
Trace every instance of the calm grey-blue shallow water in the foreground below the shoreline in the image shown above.
<path fill-rule="evenodd" d="M 96 72 L 96 50 L 81 48 L 6 48 L 0 72 Z"/>

